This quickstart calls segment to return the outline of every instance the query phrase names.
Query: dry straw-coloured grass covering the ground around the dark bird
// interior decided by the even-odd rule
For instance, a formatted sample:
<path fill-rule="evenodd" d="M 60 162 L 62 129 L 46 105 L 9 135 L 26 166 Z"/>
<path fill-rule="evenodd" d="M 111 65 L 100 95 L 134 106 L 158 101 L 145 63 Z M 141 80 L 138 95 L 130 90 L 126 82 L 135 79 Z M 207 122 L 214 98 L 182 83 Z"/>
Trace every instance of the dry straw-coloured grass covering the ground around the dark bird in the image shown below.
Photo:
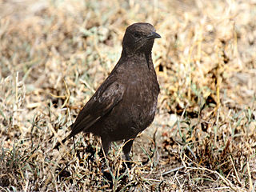
<path fill-rule="evenodd" d="M 0 17 L 2 191 L 256 190 L 255 1 L 12 0 Z M 133 22 L 162 39 L 158 114 L 134 142 L 132 169 L 122 143 L 105 160 L 91 134 L 52 150 Z"/>

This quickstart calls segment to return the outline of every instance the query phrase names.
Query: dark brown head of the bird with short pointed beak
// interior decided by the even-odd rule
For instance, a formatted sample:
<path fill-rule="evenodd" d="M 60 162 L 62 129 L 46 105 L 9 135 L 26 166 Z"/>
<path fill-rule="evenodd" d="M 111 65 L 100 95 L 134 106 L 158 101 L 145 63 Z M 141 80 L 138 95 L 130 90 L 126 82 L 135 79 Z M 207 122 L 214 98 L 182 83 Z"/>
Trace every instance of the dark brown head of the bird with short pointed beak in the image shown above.
<path fill-rule="evenodd" d="M 122 49 L 126 54 L 151 53 L 154 38 L 161 38 L 154 26 L 146 22 L 137 22 L 126 28 L 122 39 Z"/>

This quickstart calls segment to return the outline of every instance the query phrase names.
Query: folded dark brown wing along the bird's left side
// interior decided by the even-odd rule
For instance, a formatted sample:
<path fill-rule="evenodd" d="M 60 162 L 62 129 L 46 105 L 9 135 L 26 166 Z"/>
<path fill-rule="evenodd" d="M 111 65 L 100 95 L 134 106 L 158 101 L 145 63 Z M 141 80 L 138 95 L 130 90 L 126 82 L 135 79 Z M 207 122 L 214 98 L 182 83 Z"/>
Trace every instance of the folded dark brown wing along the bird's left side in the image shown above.
<path fill-rule="evenodd" d="M 110 112 L 122 100 L 125 89 L 114 76 L 106 78 L 102 86 L 98 88 L 95 94 L 82 108 L 76 121 L 71 126 L 71 133 L 68 138 L 73 137 L 82 130 L 88 129 L 105 114 Z"/>

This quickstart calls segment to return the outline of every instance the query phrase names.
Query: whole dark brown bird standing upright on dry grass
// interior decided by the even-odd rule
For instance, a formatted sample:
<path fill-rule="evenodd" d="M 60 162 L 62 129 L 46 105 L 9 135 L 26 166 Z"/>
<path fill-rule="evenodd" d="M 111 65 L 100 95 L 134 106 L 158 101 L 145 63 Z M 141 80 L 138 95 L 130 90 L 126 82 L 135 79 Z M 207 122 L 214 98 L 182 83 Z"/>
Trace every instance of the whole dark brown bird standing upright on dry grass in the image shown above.
<path fill-rule="evenodd" d="M 108 154 L 110 143 L 125 139 L 123 152 L 129 161 L 137 134 L 154 120 L 159 85 L 151 58 L 154 38 L 161 38 L 150 23 L 138 22 L 126 28 L 122 55 L 109 77 L 82 108 L 66 139 L 91 132 L 102 139 Z M 60 143 L 55 146 L 58 148 Z"/>

